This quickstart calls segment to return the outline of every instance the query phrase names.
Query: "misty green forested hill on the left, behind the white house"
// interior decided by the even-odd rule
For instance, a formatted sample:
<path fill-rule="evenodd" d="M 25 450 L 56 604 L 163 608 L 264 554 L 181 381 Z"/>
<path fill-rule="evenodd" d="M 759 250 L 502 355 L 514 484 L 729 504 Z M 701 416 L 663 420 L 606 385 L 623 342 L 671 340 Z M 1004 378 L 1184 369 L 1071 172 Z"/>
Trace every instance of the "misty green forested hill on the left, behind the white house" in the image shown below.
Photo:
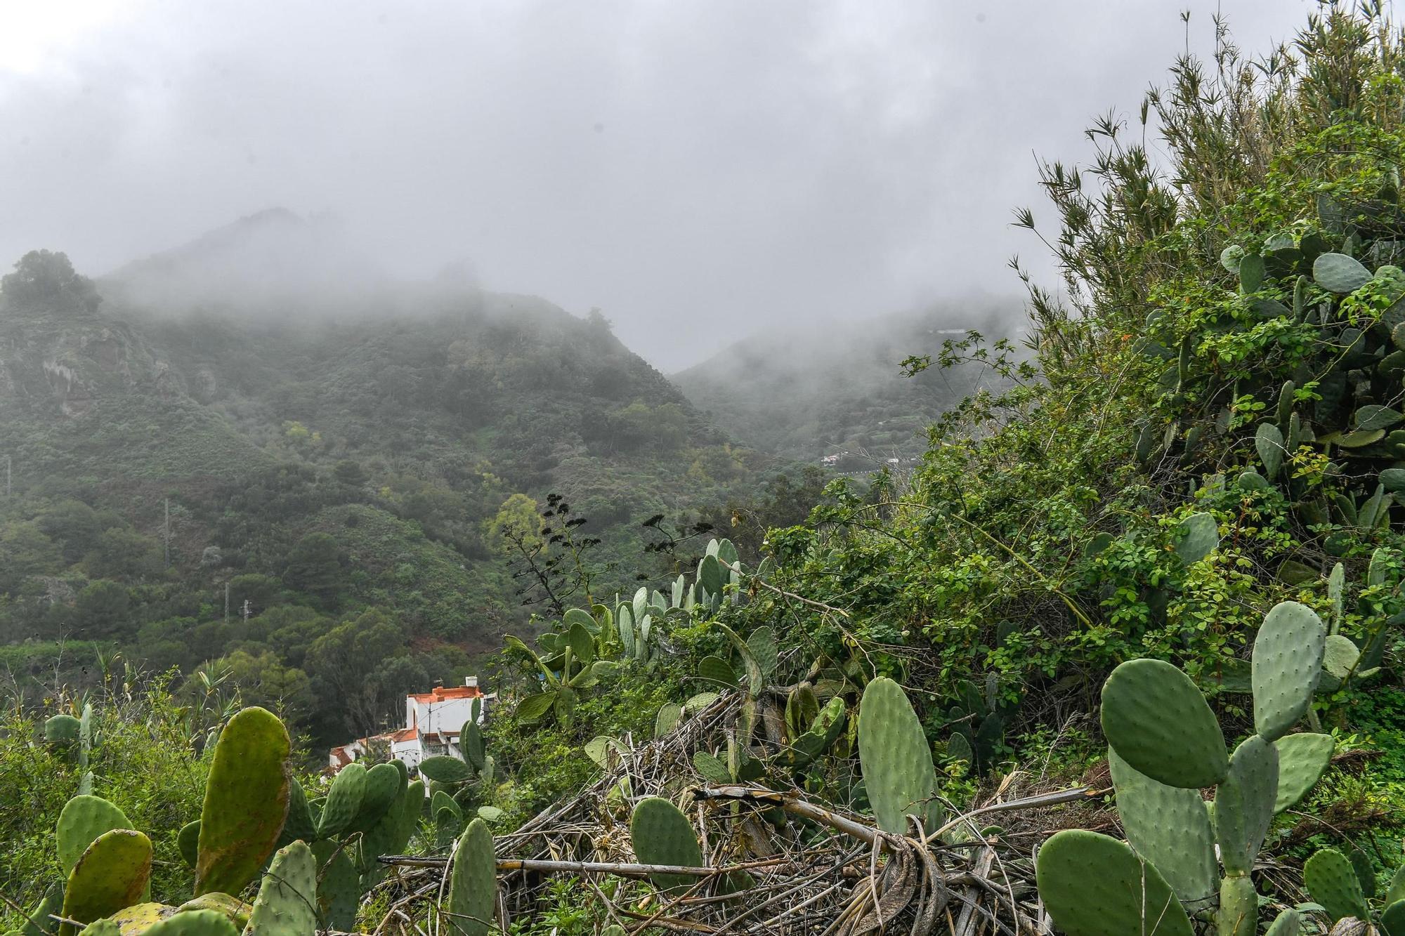
<path fill-rule="evenodd" d="M 327 257 L 249 266 L 309 240 L 274 212 L 98 284 L 52 253 L 6 277 L 0 652 L 21 682 L 121 648 L 232 670 L 336 741 L 582 573 L 632 590 L 642 520 L 764 476 L 601 316 L 461 282 L 313 297 Z M 357 680 L 351 645 L 377 648 Z"/>

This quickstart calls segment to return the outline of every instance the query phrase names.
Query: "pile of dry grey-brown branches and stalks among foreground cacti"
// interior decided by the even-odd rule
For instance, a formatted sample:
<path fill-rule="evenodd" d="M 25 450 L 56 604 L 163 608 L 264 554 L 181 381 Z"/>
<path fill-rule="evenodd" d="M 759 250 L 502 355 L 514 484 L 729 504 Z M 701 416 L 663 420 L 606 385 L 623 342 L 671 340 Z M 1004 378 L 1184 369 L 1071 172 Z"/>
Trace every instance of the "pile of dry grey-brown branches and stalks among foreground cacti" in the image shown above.
<path fill-rule="evenodd" d="M 570 876 L 592 891 L 610 923 L 627 933 L 1051 933 L 1034 888 L 1034 845 L 1041 812 L 1090 802 L 1079 788 L 1013 798 L 1007 777 L 991 801 L 948 822 L 909 835 L 880 831 L 870 817 L 806 800 L 795 790 L 705 784 L 691 753 L 735 729 L 740 700 L 725 696 L 662 738 L 611 756 L 608 769 L 575 798 L 554 805 L 496 839 L 499 925 L 528 916 L 551 876 Z M 704 867 L 641 864 L 631 846 L 634 801 L 662 795 L 691 818 Z M 982 825 L 1000 815 L 1019 829 Z M 382 884 L 391 908 L 377 933 L 440 936 L 436 912 L 447 859 L 382 857 L 399 873 Z M 636 883 L 691 870 L 672 890 Z"/>

